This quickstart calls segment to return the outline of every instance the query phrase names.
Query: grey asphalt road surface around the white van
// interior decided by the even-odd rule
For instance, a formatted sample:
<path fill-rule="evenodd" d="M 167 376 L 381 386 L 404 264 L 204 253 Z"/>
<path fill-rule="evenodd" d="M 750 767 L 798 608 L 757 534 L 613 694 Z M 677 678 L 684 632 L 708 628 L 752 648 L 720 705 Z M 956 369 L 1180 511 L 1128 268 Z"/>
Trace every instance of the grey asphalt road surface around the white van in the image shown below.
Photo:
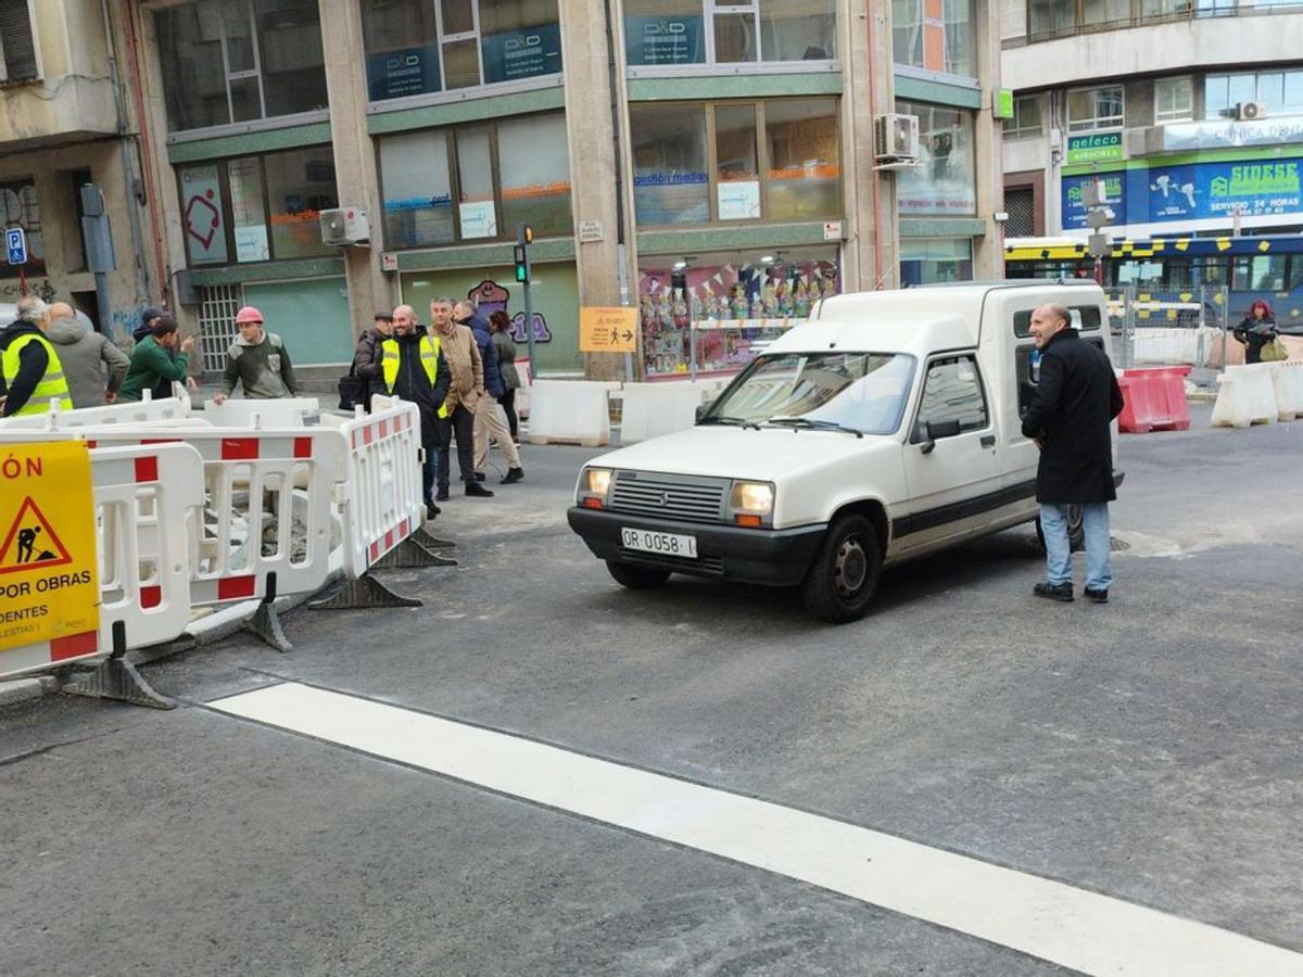
<path fill-rule="evenodd" d="M 301 610 L 288 655 L 236 637 L 146 667 L 171 713 L 0 710 L 0 973 L 1061 969 L 203 705 L 279 681 L 1303 952 L 1303 422 L 1195 419 L 1123 439 L 1111 604 L 1035 601 L 1024 528 L 890 572 L 840 628 L 788 593 L 622 590 L 564 524 L 594 452 L 526 447 L 524 485 L 437 521 L 459 567 L 383 574 L 422 608 Z"/>

